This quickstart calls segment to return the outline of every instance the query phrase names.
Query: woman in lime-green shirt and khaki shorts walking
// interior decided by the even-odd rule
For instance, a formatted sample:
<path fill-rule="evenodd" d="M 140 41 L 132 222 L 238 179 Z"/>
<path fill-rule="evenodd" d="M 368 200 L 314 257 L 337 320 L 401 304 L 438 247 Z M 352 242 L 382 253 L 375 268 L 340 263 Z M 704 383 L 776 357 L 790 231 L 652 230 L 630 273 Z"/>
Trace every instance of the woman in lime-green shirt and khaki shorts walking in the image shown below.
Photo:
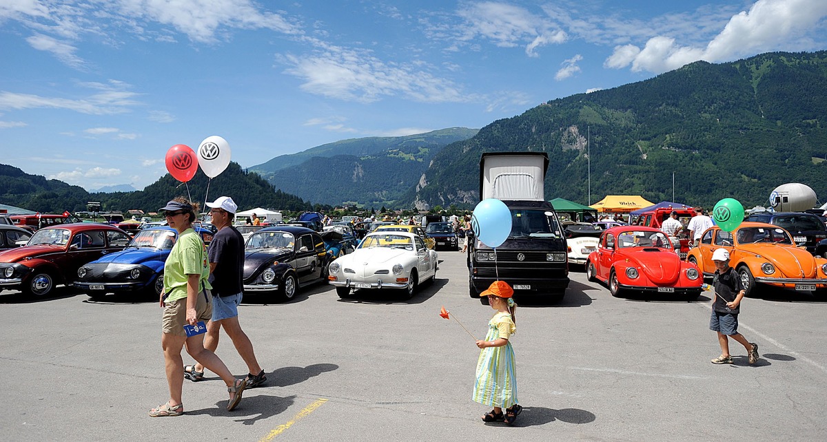
<path fill-rule="evenodd" d="M 198 321 L 208 321 L 212 314 L 209 294 L 212 286 L 208 282 L 209 266 L 207 252 L 199 236 L 193 230 L 198 203 L 191 203 L 184 197 L 167 202 L 159 211 L 164 211 L 167 224 L 178 232 L 170 256 L 164 264 L 164 293 L 160 307 L 164 308 L 163 335 L 166 383 L 170 388 L 170 400 L 150 411 L 152 417 L 181 416 L 181 390 L 184 387 L 184 361 L 181 349 L 187 346 L 187 353 L 198 363 L 218 374 L 227 384 L 230 400 L 227 411 L 232 411 L 241 402 L 241 392 L 247 383 L 236 379 L 221 359 L 212 351 L 204 349 L 203 334 L 187 336 L 184 326 L 194 326 Z"/>

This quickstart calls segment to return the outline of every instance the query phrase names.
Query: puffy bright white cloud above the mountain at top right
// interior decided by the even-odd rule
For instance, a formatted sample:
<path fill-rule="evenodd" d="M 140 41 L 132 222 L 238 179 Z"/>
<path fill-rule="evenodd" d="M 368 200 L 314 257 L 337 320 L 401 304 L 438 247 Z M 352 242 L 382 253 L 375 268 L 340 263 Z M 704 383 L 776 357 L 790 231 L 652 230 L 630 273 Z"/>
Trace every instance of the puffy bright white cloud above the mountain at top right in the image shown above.
<path fill-rule="evenodd" d="M 729 18 L 717 36 L 704 45 L 681 45 L 672 36 L 653 36 L 643 49 L 618 45 L 605 67 L 661 73 L 697 60 L 722 62 L 739 56 L 773 50 L 807 50 L 818 47 L 805 38 L 823 29 L 827 2 L 820 0 L 758 0 L 748 12 Z"/>

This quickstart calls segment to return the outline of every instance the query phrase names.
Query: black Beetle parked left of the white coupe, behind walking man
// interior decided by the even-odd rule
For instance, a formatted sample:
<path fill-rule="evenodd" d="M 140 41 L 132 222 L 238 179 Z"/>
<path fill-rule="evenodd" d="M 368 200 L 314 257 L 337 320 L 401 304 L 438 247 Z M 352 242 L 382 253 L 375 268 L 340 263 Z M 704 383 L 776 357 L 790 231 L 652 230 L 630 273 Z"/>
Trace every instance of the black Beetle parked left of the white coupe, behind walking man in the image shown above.
<path fill-rule="evenodd" d="M 298 226 L 265 227 L 244 246 L 244 292 L 272 293 L 280 301 L 327 277 L 327 253 L 318 232 Z"/>

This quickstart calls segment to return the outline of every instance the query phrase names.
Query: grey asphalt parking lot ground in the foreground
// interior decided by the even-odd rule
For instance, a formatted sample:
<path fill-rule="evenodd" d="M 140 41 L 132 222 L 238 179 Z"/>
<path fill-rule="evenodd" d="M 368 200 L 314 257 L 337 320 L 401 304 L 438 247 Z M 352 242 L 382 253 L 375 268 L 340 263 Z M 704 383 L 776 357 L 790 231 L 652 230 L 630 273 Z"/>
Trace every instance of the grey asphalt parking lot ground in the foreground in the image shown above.
<path fill-rule="evenodd" d="M 741 307 L 733 365 L 708 330 L 709 298 L 614 298 L 582 269 L 559 303 L 520 300 L 514 428 L 471 402 L 490 307 L 467 293 L 464 255 L 441 252 L 437 280 L 340 300 L 327 285 L 294 302 L 246 297 L 241 324 L 269 383 L 236 411 L 208 373 L 184 381 L 186 414 L 153 419 L 168 398 L 156 302 L 91 302 L 61 288 L 36 302 L 0 294 L 0 440 L 824 440 L 827 302 L 771 291 Z M 226 335 L 218 355 L 246 367 Z M 191 359 L 184 354 L 185 363 Z"/>

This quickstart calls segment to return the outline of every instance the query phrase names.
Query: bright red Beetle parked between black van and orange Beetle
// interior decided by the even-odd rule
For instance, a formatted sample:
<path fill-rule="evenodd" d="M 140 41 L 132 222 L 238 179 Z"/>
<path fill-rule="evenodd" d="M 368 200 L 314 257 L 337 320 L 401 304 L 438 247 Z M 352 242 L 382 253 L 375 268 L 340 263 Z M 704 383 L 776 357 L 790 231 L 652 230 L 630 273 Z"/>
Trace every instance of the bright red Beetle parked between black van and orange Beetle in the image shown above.
<path fill-rule="evenodd" d="M 704 279 L 695 264 L 681 261 L 662 231 L 645 226 L 612 227 L 589 254 L 590 281 L 604 281 L 612 296 L 625 291 L 661 292 L 696 299 Z"/>

